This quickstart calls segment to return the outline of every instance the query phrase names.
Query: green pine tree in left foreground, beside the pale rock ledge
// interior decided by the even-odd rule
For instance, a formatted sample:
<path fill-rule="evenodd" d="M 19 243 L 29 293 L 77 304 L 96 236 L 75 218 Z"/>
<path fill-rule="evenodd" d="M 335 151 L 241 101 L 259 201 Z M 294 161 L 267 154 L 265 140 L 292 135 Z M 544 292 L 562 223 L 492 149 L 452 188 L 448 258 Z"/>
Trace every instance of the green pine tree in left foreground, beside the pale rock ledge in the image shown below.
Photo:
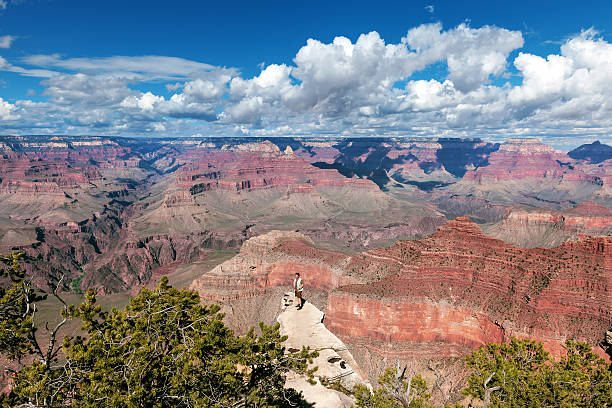
<path fill-rule="evenodd" d="M 17 261 L 15 265 L 13 270 L 18 271 Z M 298 392 L 285 388 L 285 376 L 294 371 L 312 378 L 315 369 L 309 370 L 308 364 L 315 352 L 304 348 L 288 353 L 278 324 L 260 324 L 260 334 L 251 329 L 236 336 L 224 325 L 218 306 L 201 305 L 196 292 L 173 288 L 165 277 L 156 289 L 142 289 L 122 310 L 103 312 L 95 292 L 88 290 L 81 305 L 66 306 L 61 312 L 63 321 L 81 320 L 84 335 L 66 337 L 61 351 L 52 345 L 49 359 L 40 358 L 30 338 L 36 329 L 28 313 L 28 308 L 35 308 L 32 300 L 40 298 L 24 295 L 23 274 L 14 276 L 13 287 L 0 293 L 4 307 L 0 351 L 13 357 L 32 353 L 36 359 L 15 373 L 14 388 L 2 402 L 5 406 L 306 404 Z M 9 331 L 15 334 L 11 337 Z"/>

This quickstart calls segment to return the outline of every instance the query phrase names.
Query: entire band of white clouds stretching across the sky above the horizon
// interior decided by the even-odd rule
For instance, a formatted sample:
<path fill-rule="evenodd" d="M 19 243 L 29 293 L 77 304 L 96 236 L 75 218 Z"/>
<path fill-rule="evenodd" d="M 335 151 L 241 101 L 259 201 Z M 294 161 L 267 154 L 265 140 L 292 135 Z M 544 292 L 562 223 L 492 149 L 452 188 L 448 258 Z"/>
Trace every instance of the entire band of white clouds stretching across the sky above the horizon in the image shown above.
<path fill-rule="evenodd" d="M 612 44 L 587 30 L 556 54 L 510 59 L 522 46 L 519 31 L 425 24 L 397 43 L 374 31 L 355 41 L 309 39 L 293 61 L 262 65 L 252 77 L 172 57 L 36 55 L 22 61 L 28 68 L 0 57 L 0 70 L 44 77 L 48 98 L 9 107 L 2 101 L 0 117 L 18 115 L 13 122 L 40 129 L 68 124 L 81 133 L 609 134 Z M 432 64 L 446 74 L 433 77 Z M 509 66 L 522 79 L 517 85 L 506 80 Z M 148 81 L 161 82 L 167 93 L 147 90 Z"/>

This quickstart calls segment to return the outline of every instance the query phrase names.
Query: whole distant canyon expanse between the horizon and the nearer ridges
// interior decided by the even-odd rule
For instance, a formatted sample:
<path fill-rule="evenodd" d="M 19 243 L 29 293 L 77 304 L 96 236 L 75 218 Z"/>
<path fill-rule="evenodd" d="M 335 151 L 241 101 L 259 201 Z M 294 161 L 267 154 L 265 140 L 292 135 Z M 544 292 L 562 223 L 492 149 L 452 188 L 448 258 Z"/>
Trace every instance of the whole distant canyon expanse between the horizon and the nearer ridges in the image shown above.
<path fill-rule="evenodd" d="M 610 235 L 595 207 L 569 210 L 612 205 L 612 163 L 589 146 L 573 158 L 533 140 L 0 137 L 0 251 L 24 251 L 42 288 L 64 275 L 66 290 L 109 293 L 274 229 L 355 253 L 470 216 L 554 246 Z"/>

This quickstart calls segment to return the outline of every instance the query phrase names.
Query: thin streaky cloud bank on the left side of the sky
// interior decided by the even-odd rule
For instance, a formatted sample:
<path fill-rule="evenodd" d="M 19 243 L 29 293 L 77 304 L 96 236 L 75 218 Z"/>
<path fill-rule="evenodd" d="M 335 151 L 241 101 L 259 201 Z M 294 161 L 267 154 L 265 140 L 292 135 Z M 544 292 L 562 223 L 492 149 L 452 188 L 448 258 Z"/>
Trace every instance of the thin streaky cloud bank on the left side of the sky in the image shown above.
<path fill-rule="evenodd" d="M 65 116 L 63 120 L 73 127 L 89 124 L 97 130 L 107 126 L 137 132 L 155 129 L 150 123 L 164 118 L 217 120 L 217 105 L 237 72 L 159 56 L 66 59 L 35 55 L 22 62 L 35 68 L 16 66 L 0 57 L 0 70 L 46 78 L 41 82 L 45 87 L 42 95 L 51 105 L 36 106 L 39 115 L 45 115 L 43 110 L 46 114 L 54 110 L 54 118 Z M 169 92 L 178 93 L 165 97 L 132 89 L 134 84 L 146 87 L 160 79 L 180 81 L 166 84 Z M 70 106 L 71 111 L 67 109 Z"/>

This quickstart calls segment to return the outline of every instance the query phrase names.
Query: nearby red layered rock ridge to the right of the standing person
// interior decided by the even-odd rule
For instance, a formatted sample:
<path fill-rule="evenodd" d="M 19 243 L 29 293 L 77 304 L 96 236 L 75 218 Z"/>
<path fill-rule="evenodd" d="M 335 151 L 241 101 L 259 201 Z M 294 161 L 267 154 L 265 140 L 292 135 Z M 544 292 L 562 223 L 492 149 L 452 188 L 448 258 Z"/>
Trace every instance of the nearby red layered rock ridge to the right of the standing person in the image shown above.
<path fill-rule="evenodd" d="M 369 317 L 354 311 L 377 302 L 396 316 L 375 329 L 391 341 L 429 339 L 477 346 L 515 335 L 534 337 L 560 352 L 568 338 L 598 344 L 612 325 L 609 237 L 525 250 L 488 238 L 468 219 L 459 218 L 426 239 L 371 255 L 401 265 L 401 272 L 332 293 L 332 331 L 367 337 L 367 330 L 362 334 L 360 328 L 368 327 Z M 404 319 L 407 305 L 412 314 Z M 445 320 L 440 315 L 446 321 L 432 324 Z"/>

